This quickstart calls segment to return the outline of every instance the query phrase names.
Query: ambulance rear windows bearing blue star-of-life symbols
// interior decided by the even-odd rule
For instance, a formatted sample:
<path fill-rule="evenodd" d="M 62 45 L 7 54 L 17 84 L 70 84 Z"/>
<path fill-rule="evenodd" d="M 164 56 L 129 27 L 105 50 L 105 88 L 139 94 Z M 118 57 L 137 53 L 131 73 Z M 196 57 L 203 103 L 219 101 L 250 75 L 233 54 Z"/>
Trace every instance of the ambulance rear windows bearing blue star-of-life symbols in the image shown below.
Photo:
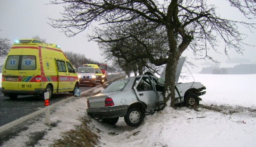
<path fill-rule="evenodd" d="M 35 70 L 36 56 L 30 55 L 11 55 L 8 56 L 5 69 L 7 70 Z"/>

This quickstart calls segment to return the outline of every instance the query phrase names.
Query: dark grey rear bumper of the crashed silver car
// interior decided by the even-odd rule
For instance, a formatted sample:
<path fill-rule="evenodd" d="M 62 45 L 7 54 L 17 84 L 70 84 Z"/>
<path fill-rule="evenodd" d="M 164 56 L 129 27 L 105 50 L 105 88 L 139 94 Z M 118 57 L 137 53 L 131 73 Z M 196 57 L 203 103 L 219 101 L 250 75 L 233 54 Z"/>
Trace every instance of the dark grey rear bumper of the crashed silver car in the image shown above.
<path fill-rule="evenodd" d="M 125 116 L 128 111 L 128 105 L 107 107 L 107 108 L 88 108 L 87 114 L 96 118 L 115 118 Z"/>

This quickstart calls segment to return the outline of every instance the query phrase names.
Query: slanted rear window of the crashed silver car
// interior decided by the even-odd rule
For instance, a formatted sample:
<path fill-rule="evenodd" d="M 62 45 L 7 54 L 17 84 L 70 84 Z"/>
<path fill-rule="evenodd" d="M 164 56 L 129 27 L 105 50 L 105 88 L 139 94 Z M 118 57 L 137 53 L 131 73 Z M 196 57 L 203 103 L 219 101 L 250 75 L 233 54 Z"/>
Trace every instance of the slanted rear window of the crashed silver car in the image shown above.
<path fill-rule="evenodd" d="M 122 91 L 128 82 L 129 79 L 113 82 L 112 84 L 107 86 L 107 88 L 104 90 L 104 93 Z"/>

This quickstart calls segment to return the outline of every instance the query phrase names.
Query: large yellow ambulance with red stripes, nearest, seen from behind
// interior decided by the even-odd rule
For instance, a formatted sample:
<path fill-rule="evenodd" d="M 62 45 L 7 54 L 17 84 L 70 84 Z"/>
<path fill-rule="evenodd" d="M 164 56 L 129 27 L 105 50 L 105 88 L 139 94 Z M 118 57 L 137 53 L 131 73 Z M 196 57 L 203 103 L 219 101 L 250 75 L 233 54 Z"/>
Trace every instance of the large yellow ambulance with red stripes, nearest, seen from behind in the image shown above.
<path fill-rule="evenodd" d="M 2 73 L 2 93 L 11 99 L 18 95 L 74 93 L 79 78 L 72 64 L 56 44 L 40 40 L 16 41 L 6 59 Z"/>

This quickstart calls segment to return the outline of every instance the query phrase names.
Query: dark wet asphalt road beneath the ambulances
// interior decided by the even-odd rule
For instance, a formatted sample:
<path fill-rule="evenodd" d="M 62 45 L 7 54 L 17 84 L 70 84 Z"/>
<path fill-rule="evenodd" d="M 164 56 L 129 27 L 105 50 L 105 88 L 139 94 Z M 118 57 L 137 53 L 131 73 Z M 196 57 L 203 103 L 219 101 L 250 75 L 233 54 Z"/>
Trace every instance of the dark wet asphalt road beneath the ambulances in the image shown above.
<path fill-rule="evenodd" d="M 116 76 L 118 75 L 110 75 L 108 76 L 108 80 L 111 80 Z M 93 87 L 89 85 L 80 85 L 81 92 L 91 88 Z M 53 94 L 50 99 L 50 104 L 54 104 L 70 96 L 72 96 L 72 94 L 69 94 L 68 92 Z M 18 96 L 16 100 L 11 100 L 9 97 L 5 97 L 0 93 L 0 126 L 15 121 L 42 108 L 44 108 L 44 99 L 39 98 L 38 96 Z"/>

